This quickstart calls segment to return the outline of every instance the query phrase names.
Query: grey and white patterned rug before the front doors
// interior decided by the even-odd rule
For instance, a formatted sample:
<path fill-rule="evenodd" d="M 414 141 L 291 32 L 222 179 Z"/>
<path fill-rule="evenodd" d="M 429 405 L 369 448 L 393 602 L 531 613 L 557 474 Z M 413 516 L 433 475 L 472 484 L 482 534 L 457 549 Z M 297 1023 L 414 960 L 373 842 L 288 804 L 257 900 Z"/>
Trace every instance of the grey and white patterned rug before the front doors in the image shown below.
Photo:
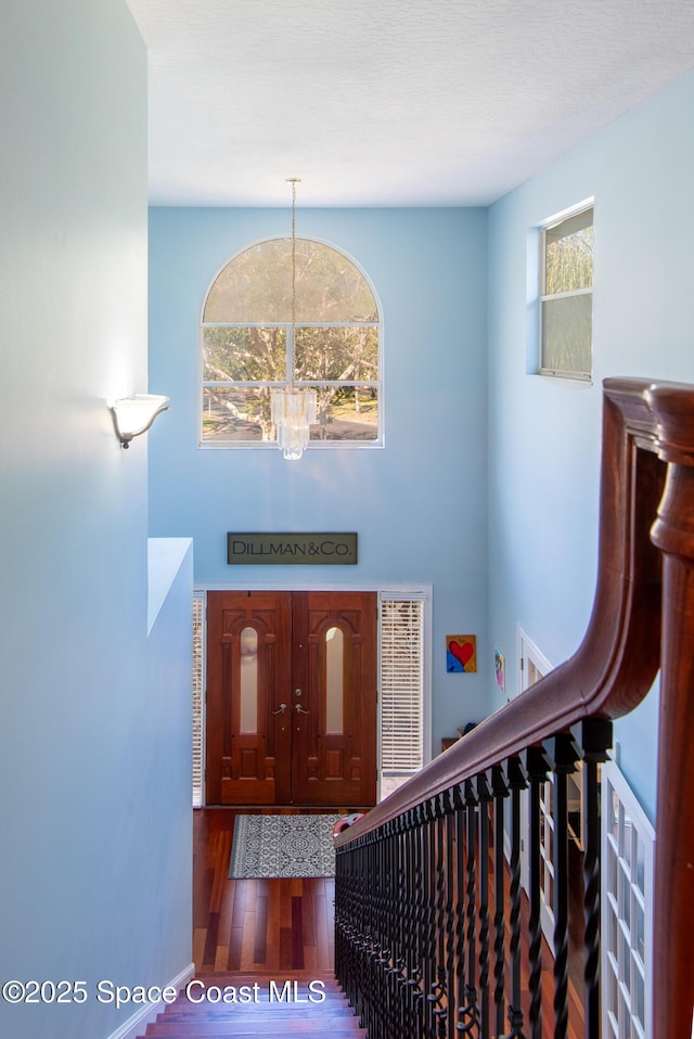
<path fill-rule="evenodd" d="M 340 816 L 236 816 L 229 876 L 334 876 Z"/>

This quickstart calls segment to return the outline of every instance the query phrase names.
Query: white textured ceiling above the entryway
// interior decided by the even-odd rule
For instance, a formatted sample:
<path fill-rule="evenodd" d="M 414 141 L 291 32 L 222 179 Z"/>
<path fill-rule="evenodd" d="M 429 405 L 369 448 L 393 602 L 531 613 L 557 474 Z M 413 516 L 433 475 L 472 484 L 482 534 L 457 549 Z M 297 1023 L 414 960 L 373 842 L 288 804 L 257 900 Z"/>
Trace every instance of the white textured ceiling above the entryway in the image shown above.
<path fill-rule="evenodd" d="M 694 0 L 128 0 L 158 205 L 486 205 L 694 67 Z"/>

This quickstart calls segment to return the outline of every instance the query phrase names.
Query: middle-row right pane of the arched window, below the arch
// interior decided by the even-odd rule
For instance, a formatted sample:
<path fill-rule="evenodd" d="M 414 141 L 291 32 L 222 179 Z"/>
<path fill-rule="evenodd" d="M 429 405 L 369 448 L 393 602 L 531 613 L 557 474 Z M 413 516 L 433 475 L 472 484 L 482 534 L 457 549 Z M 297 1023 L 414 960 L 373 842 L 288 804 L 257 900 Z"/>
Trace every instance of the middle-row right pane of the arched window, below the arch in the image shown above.
<path fill-rule="evenodd" d="M 296 329 L 294 377 L 331 382 L 378 377 L 376 329 Z"/>

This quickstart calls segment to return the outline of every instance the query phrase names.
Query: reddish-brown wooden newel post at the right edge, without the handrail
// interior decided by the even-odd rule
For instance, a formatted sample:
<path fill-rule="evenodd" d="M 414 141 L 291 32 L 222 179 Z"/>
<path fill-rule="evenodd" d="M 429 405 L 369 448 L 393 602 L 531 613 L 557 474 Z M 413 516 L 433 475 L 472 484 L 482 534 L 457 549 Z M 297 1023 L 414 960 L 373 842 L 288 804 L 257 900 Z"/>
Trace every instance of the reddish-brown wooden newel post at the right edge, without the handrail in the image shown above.
<path fill-rule="evenodd" d="M 690 1036 L 694 1002 L 694 394 L 656 385 L 646 399 L 668 463 L 651 535 L 663 552 L 654 1039 L 673 1039 Z"/>

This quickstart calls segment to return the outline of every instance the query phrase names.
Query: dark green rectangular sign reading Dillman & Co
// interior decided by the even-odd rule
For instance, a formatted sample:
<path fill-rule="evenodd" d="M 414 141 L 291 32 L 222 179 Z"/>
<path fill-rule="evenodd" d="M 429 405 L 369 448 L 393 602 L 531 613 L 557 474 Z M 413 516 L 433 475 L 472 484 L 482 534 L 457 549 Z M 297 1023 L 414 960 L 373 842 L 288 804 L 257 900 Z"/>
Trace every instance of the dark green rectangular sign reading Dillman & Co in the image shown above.
<path fill-rule="evenodd" d="M 356 534 L 228 534 L 227 562 L 241 565 L 349 565 L 358 562 Z"/>

